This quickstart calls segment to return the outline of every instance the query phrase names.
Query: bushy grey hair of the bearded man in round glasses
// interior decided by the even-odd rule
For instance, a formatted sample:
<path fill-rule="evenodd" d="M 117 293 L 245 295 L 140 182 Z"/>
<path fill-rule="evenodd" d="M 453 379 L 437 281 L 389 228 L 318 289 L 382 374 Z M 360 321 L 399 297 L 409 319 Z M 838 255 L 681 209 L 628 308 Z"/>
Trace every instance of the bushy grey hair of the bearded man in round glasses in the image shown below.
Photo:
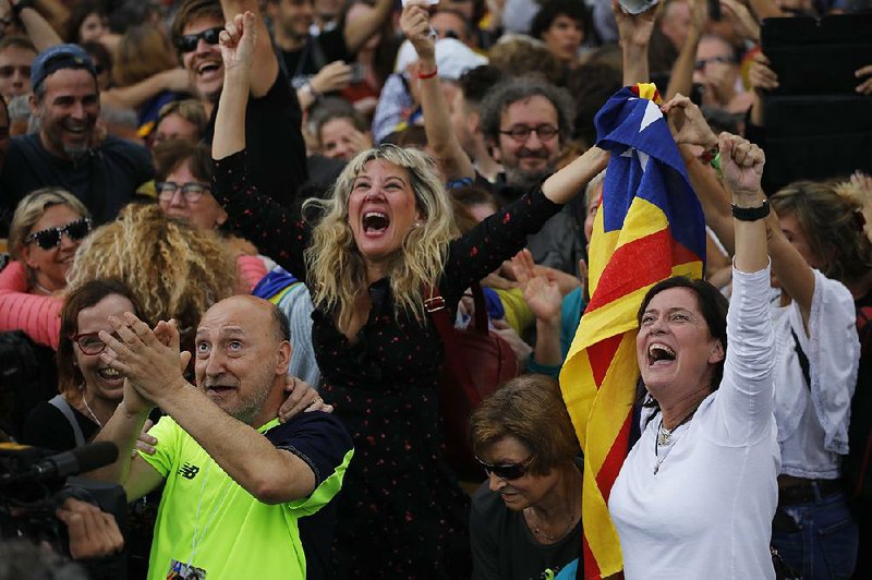
<path fill-rule="evenodd" d="M 499 140 L 499 124 L 502 112 L 512 102 L 534 96 L 545 97 L 557 109 L 557 129 L 560 142 L 566 143 L 572 134 L 576 119 L 576 104 L 565 88 L 555 86 L 535 76 L 513 76 L 497 84 L 482 99 L 479 113 L 482 119 L 482 132 L 486 138 Z"/>

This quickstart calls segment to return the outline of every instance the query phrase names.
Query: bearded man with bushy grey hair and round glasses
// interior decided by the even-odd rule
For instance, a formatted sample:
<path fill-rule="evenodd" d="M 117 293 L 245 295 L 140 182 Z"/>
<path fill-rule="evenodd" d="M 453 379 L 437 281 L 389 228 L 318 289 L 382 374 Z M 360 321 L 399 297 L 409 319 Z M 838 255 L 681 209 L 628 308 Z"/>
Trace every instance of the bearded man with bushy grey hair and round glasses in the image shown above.
<path fill-rule="evenodd" d="M 482 100 L 479 114 L 493 157 L 502 165 L 495 193 L 510 202 L 557 171 L 576 109 L 566 89 L 522 76 L 497 84 Z M 582 246 L 572 206 L 531 235 L 528 247 L 536 264 L 576 274 Z"/>

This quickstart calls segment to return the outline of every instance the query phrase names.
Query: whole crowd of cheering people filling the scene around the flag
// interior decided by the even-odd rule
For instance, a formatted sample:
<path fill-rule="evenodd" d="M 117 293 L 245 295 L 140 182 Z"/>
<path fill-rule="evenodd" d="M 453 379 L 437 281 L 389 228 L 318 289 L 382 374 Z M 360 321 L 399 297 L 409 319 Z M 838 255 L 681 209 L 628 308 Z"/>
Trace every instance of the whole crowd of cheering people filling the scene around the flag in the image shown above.
<path fill-rule="evenodd" d="M 28 558 L 34 578 L 70 558 L 92 578 L 585 577 L 593 474 L 557 378 L 616 171 L 594 119 L 651 82 L 706 255 L 704 279 L 640 294 L 606 497 L 623 576 L 868 577 L 872 150 L 786 162 L 789 59 L 764 51 L 773 23 L 850 36 L 870 14 L 0 0 L 0 442 L 111 442 L 86 475 L 130 503 L 66 499 L 64 557 L 43 557 L 9 537 L 37 512 L 0 461 L 0 579 Z M 872 114 L 860 45 L 832 93 Z M 462 331 L 482 309 L 519 371 L 468 418 L 471 476 L 436 317 Z"/>

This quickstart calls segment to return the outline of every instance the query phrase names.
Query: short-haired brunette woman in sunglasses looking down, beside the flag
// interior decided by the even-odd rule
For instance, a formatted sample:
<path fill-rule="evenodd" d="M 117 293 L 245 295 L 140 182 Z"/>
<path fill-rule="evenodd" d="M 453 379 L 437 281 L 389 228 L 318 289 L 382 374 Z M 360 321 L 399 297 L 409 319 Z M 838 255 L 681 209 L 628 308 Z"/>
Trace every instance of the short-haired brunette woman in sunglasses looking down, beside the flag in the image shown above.
<path fill-rule="evenodd" d="M 574 578 L 581 448 L 557 382 L 509 380 L 476 409 L 471 427 L 488 476 L 472 498 L 473 578 Z"/>

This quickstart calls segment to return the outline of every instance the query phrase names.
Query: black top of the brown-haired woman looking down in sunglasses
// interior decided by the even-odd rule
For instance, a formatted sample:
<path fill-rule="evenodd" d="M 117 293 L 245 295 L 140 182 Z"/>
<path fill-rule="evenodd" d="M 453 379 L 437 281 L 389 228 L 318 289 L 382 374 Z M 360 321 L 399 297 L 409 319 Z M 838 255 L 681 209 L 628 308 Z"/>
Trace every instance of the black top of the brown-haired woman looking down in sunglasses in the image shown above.
<path fill-rule="evenodd" d="M 474 580 L 540 580 L 559 578 L 571 563 L 581 563 L 581 521 L 556 544 L 540 544 L 524 521 L 512 511 L 487 482 L 472 496 L 470 540 Z M 549 573 L 550 572 L 550 573 Z M 576 578 L 564 572 L 567 578 Z"/>

